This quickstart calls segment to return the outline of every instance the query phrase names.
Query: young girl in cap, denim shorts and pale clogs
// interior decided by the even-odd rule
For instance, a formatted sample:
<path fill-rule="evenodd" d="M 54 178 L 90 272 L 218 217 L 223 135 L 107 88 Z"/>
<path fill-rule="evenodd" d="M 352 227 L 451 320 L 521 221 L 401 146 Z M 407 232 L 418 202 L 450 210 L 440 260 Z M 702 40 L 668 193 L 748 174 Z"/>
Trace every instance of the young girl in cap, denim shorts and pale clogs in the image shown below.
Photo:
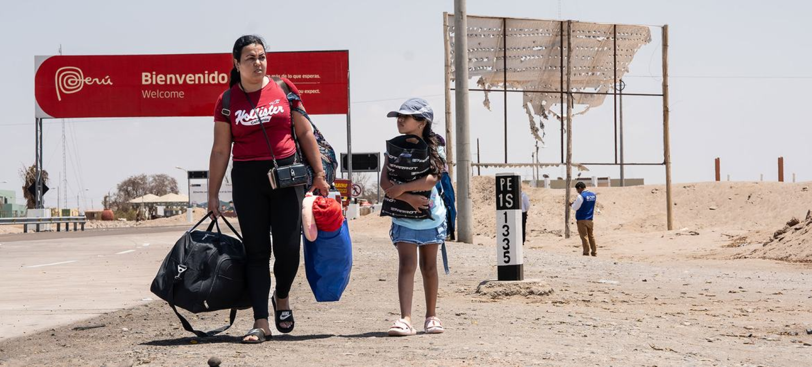
<path fill-rule="evenodd" d="M 414 273 L 417 270 L 418 252 L 420 253 L 420 271 L 423 275 L 425 289 L 425 322 L 426 334 L 443 332 L 443 324 L 437 318 L 437 250 L 446 238 L 446 208 L 434 185 L 443 172 L 444 159 L 438 151 L 438 142 L 431 132 L 431 121 L 434 112 L 428 102 L 420 98 L 407 100 L 400 110 L 392 111 L 387 117 L 397 117 L 398 132 L 421 137 L 429 147 L 430 169 L 413 181 L 398 184 L 391 181 L 388 169 L 382 169 L 381 188 L 389 198 L 396 198 L 408 203 L 416 211 L 430 212 L 427 219 L 407 219 L 392 217 L 389 235 L 398 250 L 400 264 L 398 267 L 398 297 L 400 299 L 400 319 L 389 329 L 390 336 L 415 335 L 412 327 L 412 292 L 414 291 Z M 415 138 L 417 140 L 417 138 Z M 430 198 L 411 191 L 431 191 Z"/>

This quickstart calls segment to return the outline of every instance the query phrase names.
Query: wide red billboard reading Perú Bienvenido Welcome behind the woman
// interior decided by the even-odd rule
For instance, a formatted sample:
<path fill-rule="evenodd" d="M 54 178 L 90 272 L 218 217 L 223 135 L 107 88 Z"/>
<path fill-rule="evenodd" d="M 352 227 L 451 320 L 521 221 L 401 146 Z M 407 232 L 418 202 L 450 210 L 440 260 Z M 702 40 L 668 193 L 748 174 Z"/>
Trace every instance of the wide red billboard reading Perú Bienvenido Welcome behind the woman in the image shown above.
<path fill-rule="evenodd" d="M 231 53 L 37 56 L 36 117 L 213 116 Z M 311 114 L 348 112 L 348 51 L 268 53 Z"/>

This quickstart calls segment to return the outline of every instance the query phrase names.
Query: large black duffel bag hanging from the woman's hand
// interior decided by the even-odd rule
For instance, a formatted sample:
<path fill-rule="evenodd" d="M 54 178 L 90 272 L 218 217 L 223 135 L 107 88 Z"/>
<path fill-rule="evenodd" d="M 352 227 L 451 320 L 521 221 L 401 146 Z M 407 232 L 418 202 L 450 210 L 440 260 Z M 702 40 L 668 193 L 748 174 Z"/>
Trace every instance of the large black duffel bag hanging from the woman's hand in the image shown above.
<path fill-rule="evenodd" d="M 205 231 L 194 230 L 211 214 L 209 211 L 175 242 L 149 288 L 169 303 L 185 330 L 200 337 L 226 331 L 234 324 L 237 309 L 251 307 L 244 280 L 246 258 L 240 233 L 222 217 L 237 238 L 222 234 L 217 219 L 212 220 Z M 214 226 L 217 232 L 212 232 Z M 175 306 L 193 314 L 231 309 L 229 324 L 213 331 L 197 331 Z"/>

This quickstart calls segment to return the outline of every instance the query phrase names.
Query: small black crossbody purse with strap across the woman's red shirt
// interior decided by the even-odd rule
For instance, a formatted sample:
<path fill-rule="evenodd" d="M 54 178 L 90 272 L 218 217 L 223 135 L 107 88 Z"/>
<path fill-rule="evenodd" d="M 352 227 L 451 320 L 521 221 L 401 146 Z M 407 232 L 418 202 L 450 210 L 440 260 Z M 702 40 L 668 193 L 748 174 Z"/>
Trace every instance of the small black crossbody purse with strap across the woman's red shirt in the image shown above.
<path fill-rule="evenodd" d="M 287 94 L 290 93 L 290 90 L 287 87 L 287 84 L 282 79 L 272 78 L 274 82 L 282 88 L 282 92 L 285 93 L 285 100 L 287 100 Z M 270 181 L 270 187 L 272 189 L 282 189 L 284 187 L 292 187 L 292 186 L 301 186 L 307 184 L 307 166 L 305 166 L 299 156 L 299 139 L 296 139 L 296 128 L 293 124 L 293 110 L 288 103 L 288 110 L 291 113 L 291 134 L 293 136 L 293 143 L 296 145 L 296 153 L 293 156 L 293 164 L 287 164 L 280 166 L 276 163 L 276 156 L 274 155 L 274 148 L 270 146 L 270 139 L 268 139 L 268 133 L 265 131 L 265 126 L 262 123 L 262 117 L 259 115 L 259 111 L 257 111 L 257 107 L 251 101 L 251 97 L 248 96 L 248 92 L 245 92 L 245 89 L 240 83 L 240 89 L 245 94 L 245 99 L 248 100 L 248 105 L 254 110 L 254 113 L 257 114 L 257 120 L 259 121 L 259 126 L 262 129 L 262 134 L 265 136 L 265 142 L 268 143 L 268 149 L 270 150 L 270 157 L 274 160 L 274 168 L 268 171 L 268 181 Z M 268 121 L 270 122 L 270 118 L 268 117 Z"/>

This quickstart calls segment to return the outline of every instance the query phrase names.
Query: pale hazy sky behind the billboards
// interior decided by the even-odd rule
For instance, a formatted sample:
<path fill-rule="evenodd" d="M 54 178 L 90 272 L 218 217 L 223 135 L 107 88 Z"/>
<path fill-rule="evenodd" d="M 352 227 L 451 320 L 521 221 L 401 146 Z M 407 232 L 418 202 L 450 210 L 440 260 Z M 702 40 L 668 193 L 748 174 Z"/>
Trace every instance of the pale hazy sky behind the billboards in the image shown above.
<path fill-rule="evenodd" d="M 285 2 L 289 3 L 289 2 Z M 258 34 L 268 50 L 350 51 L 353 151 L 382 151 L 397 134 L 385 114 L 412 96 L 434 106 L 435 126 L 444 130 L 443 11 L 453 1 L 283 2 L 6 2 L 0 12 L 0 190 L 16 190 L 18 171 L 34 161 L 34 56 L 63 54 L 227 53 L 235 39 Z M 669 24 L 671 137 L 676 182 L 712 181 L 714 158 L 723 179 L 777 179 L 784 156 L 785 179 L 812 180 L 809 103 L 812 41 L 806 24 L 810 2 L 756 1 L 473 1 L 469 15 L 573 19 L 601 23 Z M 659 92 L 659 29 L 637 53 L 627 83 Z M 475 85 L 471 82 L 472 87 Z M 453 98 L 453 96 L 452 96 Z M 650 97 L 648 97 L 650 98 Z M 503 160 L 503 104 L 470 94 L 471 139 L 481 139 L 482 161 Z M 607 100 L 611 102 L 611 100 Z M 212 101 L 214 104 L 214 100 Z M 305 100 L 305 105 L 307 100 Z M 627 161 L 662 161 L 661 102 L 624 99 Z M 452 107 L 453 109 L 453 107 Z M 574 161 L 614 160 L 611 103 L 573 121 Z M 508 158 L 529 162 L 533 139 L 520 96 L 508 100 Z M 317 126 L 337 151 L 346 149 L 346 118 L 316 116 Z M 101 207 L 102 197 L 124 178 L 166 173 L 186 193 L 185 169 L 207 169 L 211 117 L 67 120 L 68 206 Z M 547 130 L 542 161 L 559 160 L 557 124 Z M 56 206 L 62 171 L 61 120 L 45 120 L 44 165 Z M 476 170 L 474 170 L 476 172 Z M 494 170 L 483 170 L 493 174 Z M 552 177 L 560 169 L 546 169 Z M 529 178 L 529 169 L 520 171 Z M 593 167 L 586 176 L 618 176 L 618 169 Z M 626 177 L 664 181 L 662 167 L 628 167 Z M 7 181 L 7 182 L 3 182 Z M 87 189 L 87 190 L 85 190 Z M 66 190 L 63 188 L 62 193 Z"/>

